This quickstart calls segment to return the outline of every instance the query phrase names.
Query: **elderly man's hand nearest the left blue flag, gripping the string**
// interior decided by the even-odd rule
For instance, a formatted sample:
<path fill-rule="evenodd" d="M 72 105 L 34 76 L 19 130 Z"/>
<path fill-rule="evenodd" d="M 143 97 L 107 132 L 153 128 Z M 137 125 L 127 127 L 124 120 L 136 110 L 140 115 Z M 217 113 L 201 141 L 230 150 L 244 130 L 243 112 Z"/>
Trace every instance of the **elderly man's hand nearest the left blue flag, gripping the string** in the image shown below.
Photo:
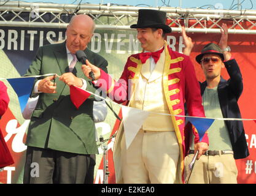
<path fill-rule="evenodd" d="M 56 84 L 51 81 L 54 78 L 55 75 L 51 75 L 39 81 L 37 90 L 44 93 L 56 93 Z"/>

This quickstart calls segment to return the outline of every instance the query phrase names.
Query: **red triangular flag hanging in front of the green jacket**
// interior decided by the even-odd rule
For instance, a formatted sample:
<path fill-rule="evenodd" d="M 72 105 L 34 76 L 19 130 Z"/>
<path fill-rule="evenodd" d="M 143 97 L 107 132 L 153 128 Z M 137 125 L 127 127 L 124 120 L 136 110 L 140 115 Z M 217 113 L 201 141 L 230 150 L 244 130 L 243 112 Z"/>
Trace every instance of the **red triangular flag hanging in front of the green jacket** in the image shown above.
<path fill-rule="evenodd" d="M 70 99 L 77 109 L 91 95 L 89 92 L 84 91 L 83 89 L 78 88 L 77 86 L 71 85 L 69 86 L 69 89 L 70 89 Z"/>

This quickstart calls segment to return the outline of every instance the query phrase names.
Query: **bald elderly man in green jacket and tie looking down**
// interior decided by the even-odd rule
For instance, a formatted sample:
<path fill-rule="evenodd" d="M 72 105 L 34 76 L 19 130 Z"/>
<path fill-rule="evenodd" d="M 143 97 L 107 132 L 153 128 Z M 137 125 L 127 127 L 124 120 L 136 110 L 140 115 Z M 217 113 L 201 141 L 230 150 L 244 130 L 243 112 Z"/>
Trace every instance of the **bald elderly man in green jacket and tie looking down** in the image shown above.
<path fill-rule="evenodd" d="M 26 145 L 24 183 L 93 183 L 95 141 L 93 100 L 90 96 L 79 109 L 72 104 L 69 86 L 96 91 L 81 70 L 76 52 L 83 50 L 90 61 L 107 70 L 107 61 L 88 50 L 95 23 L 88 15 L 72 17 L 66 41 L 39 48 L 26 72 L 28 75 L 57 74 L 35 83 L 39 100 L 31 116 Z M 93 165 L 93 167 L 91 167 Z"/>

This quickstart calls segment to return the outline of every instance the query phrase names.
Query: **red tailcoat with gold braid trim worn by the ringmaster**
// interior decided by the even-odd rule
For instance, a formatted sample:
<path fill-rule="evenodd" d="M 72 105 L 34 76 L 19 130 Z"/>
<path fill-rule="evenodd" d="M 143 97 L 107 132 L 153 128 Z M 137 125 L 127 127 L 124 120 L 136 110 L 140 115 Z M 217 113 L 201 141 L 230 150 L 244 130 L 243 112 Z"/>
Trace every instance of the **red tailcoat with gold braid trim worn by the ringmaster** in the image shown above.
<path fill-rule="evenodd" d="M 182 178 L 182 173 L 184 171 L 184 157 L 185 157 L 185 136 L 184 136 L 184 126 L 185 118 L 174 115 L 185 115 L 184 103 L 186 102 L 188 115 L 189 116 L 204 116 L 204 109 L 202 105 L 202 98 L 200 93 L 200 86 L 198 80 L 196 79 L 195 68 L 193 67 L 192 61 L 186 55 L 177 53 L 171 50 L 169 46 L 165 43 L 165 68 L 163 71 L 163 90 L 165 93 L 165 99 L 168 104 L 170 120 L 173 121 L 177 141 L 179 143 L 180 149 L 180 165 L 179 165 L 179 182 L 184 181 Z M 115 102 L 122 103 L 129 100 L 133 93 L 134 85 L 136 86 L 136 79 L 139 78 L 141 74 L 142 67 L 139 55 L 131 55 L 123 69 L 122 76 L 116 82 L 103 70 L 101 70 L 101 78 L 99 78 L 99 86 L 103 91 L 107 92 L 107 95 L 111 97 Z M 153 96 L 153 95 L 152 95 Z M 194 127 L 195 143 L 199 141 L 198 133 Z M 118 131 L 115 143 L 118 145 Z M 202 142 L 208 143 L 207 134 L 204 135 Z M 118 151 L 117 145 L 114 148 L 114 162 L 115 151 Z M 117 183 L 122 182 L 122 175 L 118 174 L 120 169 L 116 166 L 115 162 L 115 172 Z M 122 172 L 122 171 L 120 171 Z"/>

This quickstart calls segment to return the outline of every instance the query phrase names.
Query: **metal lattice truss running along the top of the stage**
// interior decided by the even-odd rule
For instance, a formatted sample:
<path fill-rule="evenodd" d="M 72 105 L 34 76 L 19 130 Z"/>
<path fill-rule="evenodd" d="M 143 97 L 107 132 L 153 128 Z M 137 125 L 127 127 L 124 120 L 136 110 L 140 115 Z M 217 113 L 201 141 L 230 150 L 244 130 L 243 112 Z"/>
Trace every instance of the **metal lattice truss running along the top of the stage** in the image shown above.
<path fill-rule="evenodd" d="M 223 20 L 231 34 L 256 34 L 256 10 L 181 9 L 179 7 L 134 7 L 113 4 L 55 4 L 6 1 L 0 5 L 0 26 L 66 28 L 71 15 L 88 14 L 96 29 L 133 30 L 139 9 L 160 9 L 167 13 L 173 32 L 182 24 L 187 32 L 219 33 Z M 246 24 L 246 25 L 243 25 Z"/>

